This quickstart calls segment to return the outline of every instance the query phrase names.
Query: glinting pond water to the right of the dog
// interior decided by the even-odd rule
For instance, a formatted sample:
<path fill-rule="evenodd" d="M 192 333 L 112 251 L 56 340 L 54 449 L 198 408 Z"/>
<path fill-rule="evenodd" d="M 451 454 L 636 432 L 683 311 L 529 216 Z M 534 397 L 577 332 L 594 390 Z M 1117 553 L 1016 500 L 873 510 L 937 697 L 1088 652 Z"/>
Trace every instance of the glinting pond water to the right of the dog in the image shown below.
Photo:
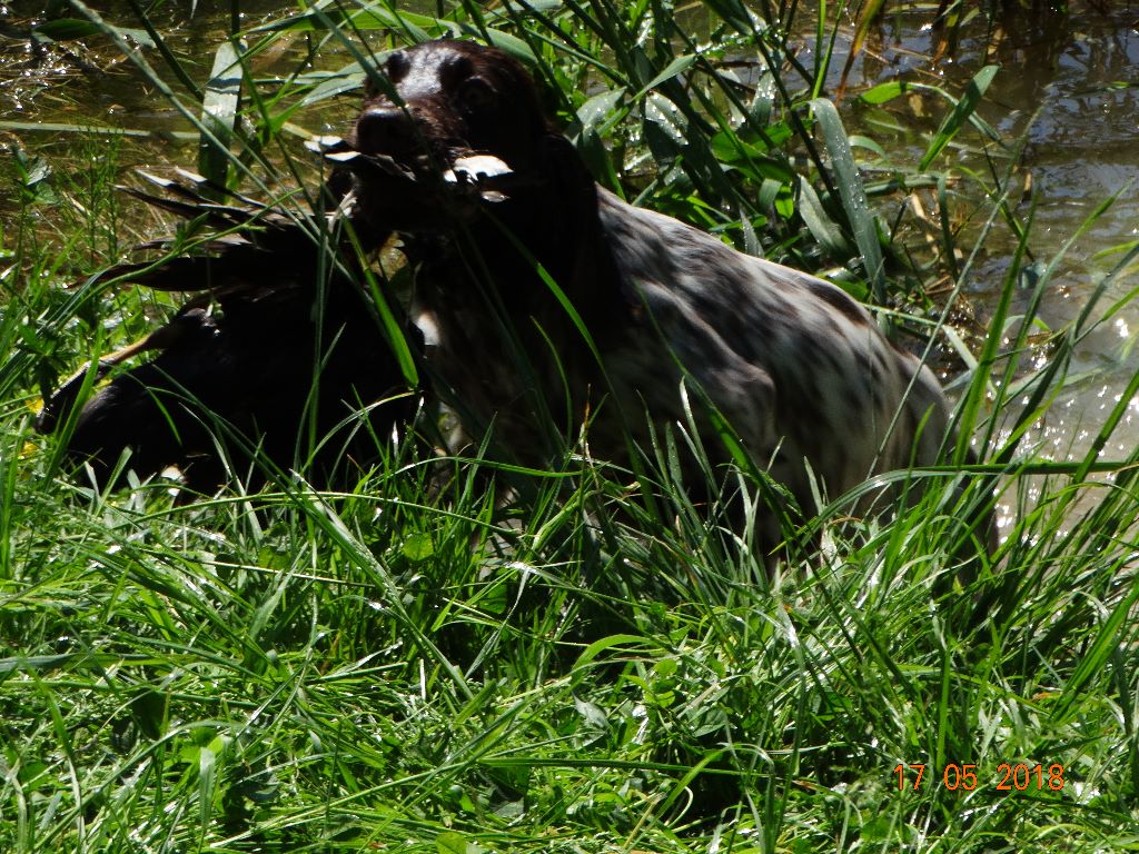
<path fill-rule="evenodd" d="M 1030 248 L 1039 262 L 1050 261 L 1101 203 L 1118 194 L 1075 240 L 1049 286 L 1040 317 L 1058 328 L 1079 314 L 1096 285 L 1122 260 L 1120 247 L 1139 240 L 1139 3 L 1076 2 L 1067 14 L 1041 7 L 1047 5 L 1033 3 L 992 23 L 978 16 L 948 48 L 945 34 L 925 25 L 927 13 L 887 15 L 867 40 L 847 84 L 857 91 L 901 75 L 959 93 L 984 65 L 999 65 L 978 113 L 1003 139 L 1025 139 L 1022 164 L 1036 198 Z M 852 38 L 853 27 L 847 26 L 847 43 Z M 863 118 L 867 133 L 894 159 L 907 145 L 911 161 L 919 158 L 924 139 L 936 128 L 935 118 L 912 116 L 906 132 L 894 132 L 891 139 L 875 131 L 872 115 Z M 925 136 L 915 145 L 908 132 L 923 126 Z M 962 164 L 985 170 L 974 154 L 960 156 Z M 982 319 L 997 302 L 1013 248 L 1010 239 L 999 236 L 986 243 L 985 257 L 969 282 Z M 1132 272 L 1114 280 L 1101 306 L 1139 284 Z M 1139 370 L 1132 350 L 1137 331 L 1139 304 L 1128 305 L 1079 347 L 1073 373 L 1085 378 L 1038 425 L 1046 455 L 1079 457 L 1090 445 Z M 1125 457 L 1137 442 L 1139 400 L 1132 400 L 1104 455 Z"/>

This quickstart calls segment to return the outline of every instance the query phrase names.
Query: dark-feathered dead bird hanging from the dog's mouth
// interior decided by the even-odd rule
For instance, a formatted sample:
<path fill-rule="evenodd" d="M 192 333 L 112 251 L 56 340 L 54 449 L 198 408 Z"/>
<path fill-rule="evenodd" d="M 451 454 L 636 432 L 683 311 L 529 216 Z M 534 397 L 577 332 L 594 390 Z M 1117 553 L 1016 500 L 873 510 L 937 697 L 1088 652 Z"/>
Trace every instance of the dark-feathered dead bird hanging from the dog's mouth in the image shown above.
<path fill-rule="evenodd" d="M 235 478 L 256 490 L 290 470 L 318 487 L 353 487 L 411 424 L 417 402 L 336 217 L 288 217 L 252 199 L 219 204 L 192 173 L 146 178 L 165 195 L 129 192 L 207 220 L 212 232 L 199 236 L 198 254 L 128 262 L 100 276 L 198 296 L 141 342 L 46 394 L 36 429 L 73 420 L 65 459 L 88 466 L 98 490 L 122 485 L 128 470 L 145 479 L 167 467 L 181 471 L 180 500 Z M 415 342 L 410 328 L 407 336 Z M 101 378 L 155 352 L 74 412 L 89 373 Z"/>

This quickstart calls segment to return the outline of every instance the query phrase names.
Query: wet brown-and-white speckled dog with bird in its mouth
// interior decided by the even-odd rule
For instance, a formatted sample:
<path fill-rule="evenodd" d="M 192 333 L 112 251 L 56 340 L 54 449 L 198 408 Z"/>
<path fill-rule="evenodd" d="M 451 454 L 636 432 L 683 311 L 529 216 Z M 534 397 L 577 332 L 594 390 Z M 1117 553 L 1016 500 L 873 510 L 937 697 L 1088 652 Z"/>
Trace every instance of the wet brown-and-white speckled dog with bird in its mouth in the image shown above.
<path fill-rule="evenodd" d="M 426 363 L 472 441 L 628 463 L 681 425 L 719 465 L 722 419 L 806 511 L 942 459 L 940 384 L 862 305 L 601 188 L 505 52 L 391 54 L 346 142 L 353 222 L 401 235 Z"/>

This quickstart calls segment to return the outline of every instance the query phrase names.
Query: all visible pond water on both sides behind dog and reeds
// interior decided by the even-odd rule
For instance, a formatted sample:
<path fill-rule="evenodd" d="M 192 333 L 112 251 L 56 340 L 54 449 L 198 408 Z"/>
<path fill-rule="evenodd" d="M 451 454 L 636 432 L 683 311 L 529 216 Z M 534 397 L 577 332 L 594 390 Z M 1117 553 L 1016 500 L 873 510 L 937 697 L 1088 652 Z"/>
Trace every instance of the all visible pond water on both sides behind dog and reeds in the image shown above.
<path fill-rule="evenodd" d="M 1067 13 L 1038 2 L 1032 6 L 1030 11 L 1013 11 L 994 20 L 976 15 L 958 32 L 947 33 L 929 26 L 928 5 L 918 10 L 909 5 L 887 5 L 887 14 L 871 28 L 849 69 L 846 92 L 903 77 L 960 93 L 982 66 L 998 64 L 1000 72 L 980 114 L 1006 140 L 1026 139 L 1024 174 L 1031 173 L 1038 205 L 1030 244 L 1039 261 L 1051 258 L 1097 206 L 1118 194 L 1114 206 L 1075 240 L 1049 286 L 1041 317 L 1055 328 L 1080 311 L 1096 282 L 1120 260 L 1118 247 L 1139 240 L 1139 5 L 1073 2 Z M 243 26 L 277 17 L 282 8 L 295 8 L 279 0 L 246 1 L 240 7 Z M 114 0 L 101 8 L 107 19 L 131 25 L 126 2 Z M 31 125 L 122 126 L 140 136 L 125 137 L 113 146 L 100 138 L 93 147 L 88 143 L 85 156 L 114 153 L 121 170 L 192 165 L 196 149 L 170 136 L 171 131 L 188 131 L 189 125 L 125 61 L 108 61 L 113 55 L 109 47 L 104 46 L 104 52 L 98 54 L 97 46 L 65 42 L 36 55 L 26 38 L 22 39 L 16 14 L 14 6 L 0 2 L 0 120 L 6 123 L 0 134 L 7 141 L 66 169 L 76 156 L 75 134 L 33 130 Z M 229 3 L 200 0 L 192 16 L 188 5 L 165 3 L 158 5 L 155 15 L 163 38 L 187 63 L 191 75 L 204 80 L 229 25 Z M 839 87 L 854 31 L 854 22 L 839 22 L 838 59 L 829 81 L 833 90 Z M 813 61 L 811 22 L 798 22 L 794 38 L 802 42 L 800 58 L 809 65 Z M 282 49 L 302 51 L 305 42 L 298 39 Z M 155 66 L 161 64 L 154 51 L 148 51 L 148 57 Z M 265 56 L 257 60 L 257 67 L 271 73 L 279 59 L 279 55 Z M 339 64 L 344 63 L 331 65 Z M 888 113 L 852 101 L 847 95 L 844 116 L 849 128 L 875 139 L 899 164 L 920 158 L 944 114 L 943 104 L 931 112 L 933 101 L 927 99 L 900 99 Z M 350 112 L 349 104 L 339 105 L 343 112 L 333 109 L 327 116 L 306 115 L 305 126 L 318 132 L 341 130 L 337 125 Z M 977 134 L 969 137 L 970 145 L 958 153 L 961 165 L 984 170 L 975 147 Z M 9 199 L 0 198 L 0 221 L 10 217 L 14 210 Z M 1008 240 L 995 237 L 986 241 L 974 268 L 968 289 L 982 322 L 1000 293 L 1011 249 Z M 1134 277 L 1121 276 L 1104 305 L 1134 286 Z M 1062 395 L 1038 429 L 1038 438 L 1054 457 L 1080 453 L 1089 430 L 1098 426 L 1139 370 L 1139 355 L 1131 346 L 1133 330 L 1139 330 L 1139 305 L 1123 307 L 1081 345 L 1074 369 L 1090 376 Z M 1123 457 L 1137 442 L 1139 403 L 1132 402 L 1105 454 Z"/>

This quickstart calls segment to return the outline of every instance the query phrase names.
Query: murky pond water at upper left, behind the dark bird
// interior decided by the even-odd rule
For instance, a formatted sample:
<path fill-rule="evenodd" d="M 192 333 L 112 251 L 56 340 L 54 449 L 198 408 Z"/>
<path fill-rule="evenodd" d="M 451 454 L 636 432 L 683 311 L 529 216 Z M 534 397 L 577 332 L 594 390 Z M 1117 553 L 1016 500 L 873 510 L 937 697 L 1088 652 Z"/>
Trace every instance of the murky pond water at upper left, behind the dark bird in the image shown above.
<path fill-rule="evenodd" d="M 43 158 L 57 173 L 83 169 L 84 161 L 92 157 L 113 161 L 113 167 L 123 175 L 136 167 L 194 167 L 194 126 L 108 39 L 60 40 L 36 49 L 27 38 L 30 19 L 17 17 L 24 6 L 0 0 L 0 140 Z M 239 6 L 243 28 L 295 13 L 295 6 L 284 0 L 243 0 Z M 230 32 L 230 3 L 197 0 L 154 7 L 149 9 L 154 28 L 188 76 L 200 85 L 208 80 L 219 44 Z M 142 35 L 128 0 L 107 0 L 99 3 L 99 10 L 104 20 L 134 27 L 133 32 Z M 296 59 L 306 47 L 303 39 L 281 40 L 253 60 L 253 69 L 271 76 L 278 65 L 285 65 L 285 54 Z M 196 114 L 192 96 L 177 83 L 157 51 L 147 49 L 142 56 Z M 339 118 L 347 114 L 345 104 Z M 57 130 L 59 126 L 66 130 Z M 76 126 L 117 129 L 122 133 L 76 133 Z M 331 115 L 323 124 L 319 117 L 312 118 L 306 128 L 316 132 L 342 130 Z M 0 194 L 0 217 L 14 210 L 14 202 Z"/>

